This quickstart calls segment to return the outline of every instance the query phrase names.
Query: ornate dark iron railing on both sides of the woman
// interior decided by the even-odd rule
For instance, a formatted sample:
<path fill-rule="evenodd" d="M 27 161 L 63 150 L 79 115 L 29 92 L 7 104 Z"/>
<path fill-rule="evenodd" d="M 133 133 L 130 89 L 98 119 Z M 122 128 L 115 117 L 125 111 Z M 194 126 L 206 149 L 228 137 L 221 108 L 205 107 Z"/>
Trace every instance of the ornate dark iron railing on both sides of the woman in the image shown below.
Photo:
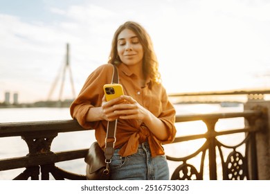
<path fill-rule="evenodd" d="M 242 129 L 226 130 L 217 132 L 215 123 L 222 118 L 245 118 L 248 125 Z M 261 124 L 264 114 L 261 110 L 244 112 L 221 113 L 221 114 L 195 114 L 177 116 L 177 122 L 204 121 L 207 126 L 205 134 L 179 136 L 174 143 L 195 139 L 206 139 L 204 145 L 197 151 L 186 157 L 177 158 L 167 156 L 168 160 L 177 161 L 180 165 L 172 173 L 171 179 L 203 179 L 206 152 L 208 152 L 209 179 L 217 179 L 217 152 L 222 161 L 223 179 L 258 179 L 255 133 L 262 130 Z M 260 123 L 260 122 L 259 122 Z M 28 123 L 1 123 L 0 138 L 8 136 L 21 136 L 28 145 L 28 155 L 0 159 L 0 172 L 17 168 L 25 170 L 14 179 L 49 179 L 49 174 L 55 179 L 86 179 L 85 175 L 67 172 L 55 166 L 57 162 L 73 159 L 83 159 L 87 149 L 53 152 L 51 143 L 58 133 L 78 132 L 84 129 L 74 120 L 68 121 L 43 121 Z M 224 145 L 217 141 L 217 136 L 235 133 L 246 133 L 242 143 L 235 146 Z M 237 151 L 241 145 L 245 145 L 245 152 Z M 231 154 L 225 159 L 222 147 L 231 148 Z M 188 160 L 201 153 L 201 166 L 197 170 Z"/>

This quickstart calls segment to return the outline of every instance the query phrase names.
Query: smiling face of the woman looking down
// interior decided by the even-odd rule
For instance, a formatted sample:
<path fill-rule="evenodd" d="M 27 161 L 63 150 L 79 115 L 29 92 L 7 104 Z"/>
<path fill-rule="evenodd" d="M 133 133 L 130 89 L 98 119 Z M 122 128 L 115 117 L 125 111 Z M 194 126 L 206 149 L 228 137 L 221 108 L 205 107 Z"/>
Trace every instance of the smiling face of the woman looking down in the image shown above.
<path fill-rule="evenodd" d="M 143 46 L 138 36 L 125 28 L 117 39 L 117 52 L 120 60 L 127 65 L 143 64 Z"/>

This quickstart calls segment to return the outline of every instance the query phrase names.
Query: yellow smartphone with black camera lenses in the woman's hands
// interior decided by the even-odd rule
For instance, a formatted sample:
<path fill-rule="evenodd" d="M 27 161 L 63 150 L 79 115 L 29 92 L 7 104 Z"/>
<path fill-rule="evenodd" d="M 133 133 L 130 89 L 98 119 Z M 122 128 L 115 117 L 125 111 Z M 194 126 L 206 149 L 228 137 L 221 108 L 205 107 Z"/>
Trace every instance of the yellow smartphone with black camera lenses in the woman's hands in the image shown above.
<path fill-rule="evenodd" d="M 103 86 L 107 102 L 124 94 L 123 87 L 120 84 L 107 84 Z"/>

